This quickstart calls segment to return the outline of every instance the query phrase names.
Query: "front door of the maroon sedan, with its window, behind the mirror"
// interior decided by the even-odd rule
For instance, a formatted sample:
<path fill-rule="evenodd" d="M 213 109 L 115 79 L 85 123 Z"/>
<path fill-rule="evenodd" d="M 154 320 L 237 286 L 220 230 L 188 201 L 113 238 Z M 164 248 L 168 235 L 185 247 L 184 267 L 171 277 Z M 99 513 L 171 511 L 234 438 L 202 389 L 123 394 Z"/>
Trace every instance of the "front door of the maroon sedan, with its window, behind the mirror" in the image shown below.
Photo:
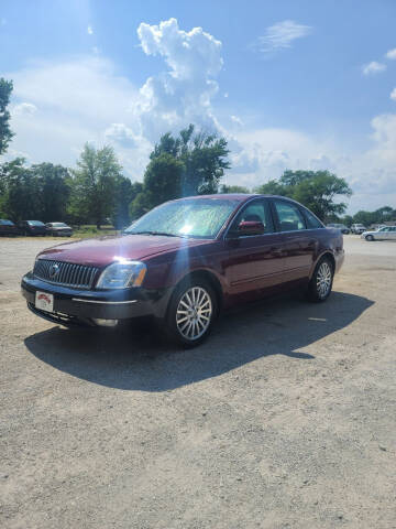
<path fill-rule="evenodd" d="M 238 234 L 242 220 L 262 222 L 264 234 Z M 244 206 L 227 235 L 229 261 L 227 276 L 231 294 L 256 293 L 283 281 L 283 245 L 275 233 L 270 201 L 256 198 Z"/>

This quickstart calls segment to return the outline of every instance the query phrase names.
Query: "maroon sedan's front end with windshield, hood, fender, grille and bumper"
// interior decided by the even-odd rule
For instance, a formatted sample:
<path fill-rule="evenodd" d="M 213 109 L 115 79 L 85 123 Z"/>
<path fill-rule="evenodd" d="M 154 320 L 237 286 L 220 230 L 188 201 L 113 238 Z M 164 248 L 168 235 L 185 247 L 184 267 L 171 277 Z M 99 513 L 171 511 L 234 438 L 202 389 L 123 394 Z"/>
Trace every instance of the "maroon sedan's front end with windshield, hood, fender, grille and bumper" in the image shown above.
<path fill-rule="evenodd" d="M 217 197 L 170 202 L 124 236 L 48 248 L 23 277 L 22 294 L 36 315 L 66 326 L 116 326 L 139 316 L 163 320 L 176 284 L 196 262 L 208 267 L 205 255 L 237 204 Z"/>

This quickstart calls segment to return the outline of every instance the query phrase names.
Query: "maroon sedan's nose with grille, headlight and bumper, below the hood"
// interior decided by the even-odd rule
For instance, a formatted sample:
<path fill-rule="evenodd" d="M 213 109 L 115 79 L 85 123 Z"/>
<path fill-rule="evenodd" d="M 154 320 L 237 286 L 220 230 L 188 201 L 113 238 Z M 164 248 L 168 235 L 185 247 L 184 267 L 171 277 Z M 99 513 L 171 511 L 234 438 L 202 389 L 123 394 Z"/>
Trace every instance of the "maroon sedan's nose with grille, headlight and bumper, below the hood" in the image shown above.
<path fill-rule="evenodd" d="M 155 314 L 162 292 L 142 288 L 146 266 L 120 259 L 106 267 L 38 258 L 21 283 L 29 309 L 66 326 L 114 326 Z"/>

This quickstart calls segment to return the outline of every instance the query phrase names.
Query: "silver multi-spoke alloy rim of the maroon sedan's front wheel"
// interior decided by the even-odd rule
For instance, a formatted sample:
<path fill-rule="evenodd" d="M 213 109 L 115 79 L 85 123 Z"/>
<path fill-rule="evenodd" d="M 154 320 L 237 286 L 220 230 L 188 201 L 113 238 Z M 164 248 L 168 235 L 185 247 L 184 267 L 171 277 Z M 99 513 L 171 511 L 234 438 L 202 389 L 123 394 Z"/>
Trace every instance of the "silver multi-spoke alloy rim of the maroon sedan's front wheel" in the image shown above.
<path fill-rule="evenodd" d="M 212 302 L 202 287 L 191 287 L 180 298 L 176 310 L 176 326 L 180 335 L 194 341 L 208 330 L 212 316 Z"/>

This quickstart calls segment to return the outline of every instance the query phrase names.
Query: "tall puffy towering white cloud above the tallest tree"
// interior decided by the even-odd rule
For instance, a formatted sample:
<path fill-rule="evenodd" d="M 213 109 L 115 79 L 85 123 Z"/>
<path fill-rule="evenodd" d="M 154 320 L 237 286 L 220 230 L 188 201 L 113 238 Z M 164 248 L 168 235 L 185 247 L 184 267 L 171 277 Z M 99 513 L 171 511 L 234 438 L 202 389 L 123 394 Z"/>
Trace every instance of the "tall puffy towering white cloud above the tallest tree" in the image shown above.
<path fill-rule="evenodd" d="M 161 132 L 189 122 L 216 129 L 211 102 L 218 91 L 215 77 L 223 64 L 221 42 L 201 28 L 180 30 L 176 19 L 160 25 L 142 23 L 138 35 L 146 55 L 160 55 L 169 66 L 168 72 L 147 78 L 131 108 L 144 136 L 155 141 Z"/>

